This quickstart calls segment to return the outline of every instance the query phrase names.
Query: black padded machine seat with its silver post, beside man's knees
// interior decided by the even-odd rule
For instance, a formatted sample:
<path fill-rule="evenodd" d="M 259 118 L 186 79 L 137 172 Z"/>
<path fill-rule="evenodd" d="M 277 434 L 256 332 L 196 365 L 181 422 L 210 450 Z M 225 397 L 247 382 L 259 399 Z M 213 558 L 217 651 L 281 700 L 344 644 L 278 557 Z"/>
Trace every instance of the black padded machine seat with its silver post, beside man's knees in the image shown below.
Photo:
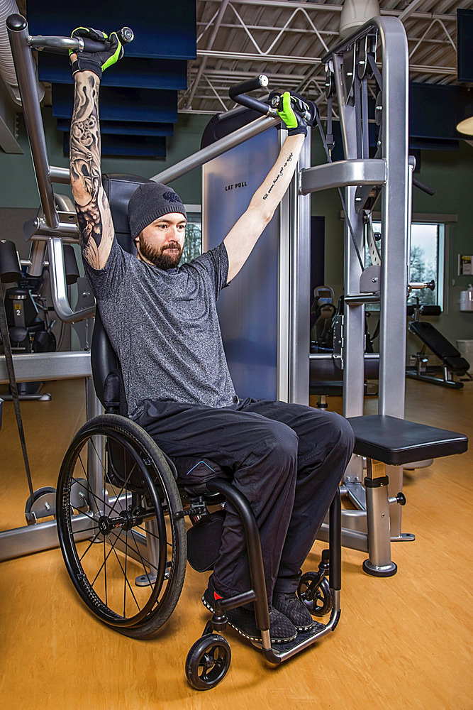
<path fill-rule="evenodd" d="M 363 569 L 375 577 L 391 577 L 397 566 L 391 561 L 389 506 L 404 506 L 402 492 L 389 498 L 387 466 L 402 466 L 421 459 L 437 459 L 467 451 L 463 434 L 428 427 L 386 415 L 348 417 L 355 432 L 355 454 L 366 457 L 365 477 L 368 559 Z"/>

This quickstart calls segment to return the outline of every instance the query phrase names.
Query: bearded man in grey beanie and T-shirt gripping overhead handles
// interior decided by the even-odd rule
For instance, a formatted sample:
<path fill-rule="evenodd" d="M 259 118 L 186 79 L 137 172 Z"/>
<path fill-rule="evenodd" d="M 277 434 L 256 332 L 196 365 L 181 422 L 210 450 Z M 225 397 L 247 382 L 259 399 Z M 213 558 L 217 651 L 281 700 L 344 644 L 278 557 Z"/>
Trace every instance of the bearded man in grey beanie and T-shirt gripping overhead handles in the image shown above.
<path fill-rule="evenodd" d="M 104 35 L 80 28 L 92 38 Z M 102 70 L 123 54 L 72 55 L 72 194 L 84 267 L 118 355 L 128 415 L 177 467 L 179 482 L 205 488 L 226 476 L 250 501 L 262 543 L 273 643 L 296 638 L 313 620 L 296 596 L 300 567 L 343 476 L 353 447 L 350 426 L 333 413 L 269 400 L 238 400 L 221 341 L 216 300 L 238 275 L 286 192 L 307 128 L 306 105 L 284 94 L 289 129 L 282 151 L 223 242 L 179 266 L 186 212 L 176 193 L 144 183 L 130 199 L 137 257 L 114 238 L 101 185 L 98 97 Z M 243 528 L 226 506 L 221 549 L 202 601 L 250 588 Z M 241 634 L 260 639 L 251 608 L 228 611 Z"/>

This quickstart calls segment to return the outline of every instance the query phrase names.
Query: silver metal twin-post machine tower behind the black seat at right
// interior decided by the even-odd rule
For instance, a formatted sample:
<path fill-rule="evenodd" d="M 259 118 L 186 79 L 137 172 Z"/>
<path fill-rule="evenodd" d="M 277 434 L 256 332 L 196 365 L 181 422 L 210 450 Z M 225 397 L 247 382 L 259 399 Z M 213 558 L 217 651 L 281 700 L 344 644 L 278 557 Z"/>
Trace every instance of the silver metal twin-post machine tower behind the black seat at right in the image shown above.
<path fill-rule="evenodd" d="M 376 72 L 376 65 L 372 72 L 382 82 L 379 87 L 382 105 L 377 106 L 377 111 L 381 112 L 378 146 L 381 157 L 369 159 L 366 72 L 368 55 L 371 53 L 372 59 L 376 57 L 378 43 L 382 72 Z M 406 322 L 402 305 L 406 304 L 408 282 L 413 173 L 413 160 L 408 159 L 408 45 L 404 26 L 397 18 L 372 18 L 326 55 L 323 62 L 328 83 L 335 83 L 346 160 L 304 171 L 301 190 L 321 190 L 326 182 L 345 187 L 345 315 L 340 323 L 336 353 L 343 368 L 343 414 L 345 417 L 363 414 L 365 304 L 379 302 L 378 413 L 402 420 L 406 368 Z M 325 175 L 329 180 L 325 180 Z M 357 202 L 362 202 L 361 185 L 377 185 L 381 189 L 380 273 L 379 267 L 362 272 L 357 258 L 357 251 L 365 252 L 363 210 L 357 206 Z M 390 308 L 392 303 L 398 303 L 399 308 Z M 317 358 L 316 355 L 311 357 Z M 381 481 L 384 474 L 389 476 L 389 491 L 384 486 L 363 486 L 362 458 L 353 457 L 342 487 L 358 508 L 343 510 L 343 545 L 369 552 L 365 571 L 382 576 L 396 572 L 396 565 L 391 562 L 391 540 L 414 539 L 413 535 L 401 532 L 399 503 L 405 502 L 403 466 L 385 466 L 382 461 L 368 459 L 367 484 L 375 475 Z M 326 535 L 324 525 L 321 537 L 325 540 Z"/>

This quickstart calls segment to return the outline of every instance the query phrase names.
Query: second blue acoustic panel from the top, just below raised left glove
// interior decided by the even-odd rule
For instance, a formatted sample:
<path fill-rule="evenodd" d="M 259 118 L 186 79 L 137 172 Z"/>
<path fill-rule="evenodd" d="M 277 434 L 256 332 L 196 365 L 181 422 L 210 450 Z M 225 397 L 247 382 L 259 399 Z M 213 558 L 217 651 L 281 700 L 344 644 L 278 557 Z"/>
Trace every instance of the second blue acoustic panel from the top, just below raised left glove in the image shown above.
<path fill-rule="evenodd" d="M 57 54 L 40 53 L 39 77 L 42 82 L 72 84 L 69 60 Z M 135 89 L 186 89 L 187 62 L 170 59 L 138 59 L 125 56 L 109 67 L 101 86 Z"/>

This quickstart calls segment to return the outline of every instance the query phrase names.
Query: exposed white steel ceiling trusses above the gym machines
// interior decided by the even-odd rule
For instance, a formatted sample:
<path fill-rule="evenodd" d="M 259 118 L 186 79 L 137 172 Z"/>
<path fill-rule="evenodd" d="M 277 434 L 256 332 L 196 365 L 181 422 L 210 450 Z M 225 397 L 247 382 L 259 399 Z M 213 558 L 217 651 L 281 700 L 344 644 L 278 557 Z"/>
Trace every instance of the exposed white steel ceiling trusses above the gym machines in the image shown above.
<path fill-rule="evenodd" d="M 408 38 L 410 80 L 457 82 L 457 9 L 472 0 L 380 0 Z M 343 0 L 197 0 L 197 58 L 189 62 L 179 111 L 215 114 L 235 106 L 228 88 L 266 74 L 269 88 L 305 94 L 325 109 L 321 58 L 340 41 Z"/>

